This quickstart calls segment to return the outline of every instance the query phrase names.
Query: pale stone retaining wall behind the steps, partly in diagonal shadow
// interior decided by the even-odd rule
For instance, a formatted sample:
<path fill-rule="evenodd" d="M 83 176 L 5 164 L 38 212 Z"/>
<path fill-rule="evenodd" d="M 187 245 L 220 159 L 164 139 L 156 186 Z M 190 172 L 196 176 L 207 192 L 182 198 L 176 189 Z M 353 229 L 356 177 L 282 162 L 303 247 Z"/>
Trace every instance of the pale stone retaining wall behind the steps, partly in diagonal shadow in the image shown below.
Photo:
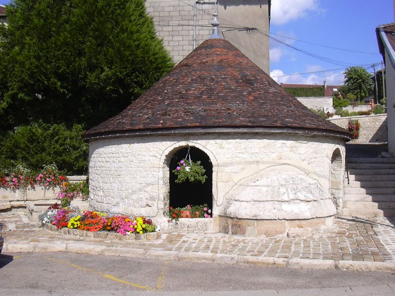
<path fill-rule="evenodd" d="M 328 120 L 338 126 L 348 130 L 350 119 L 357 119 L 361 124 L 358 139 L 353 139 L 356 143 L 381 143 L 387 142 L 387 114 L 369 116 L 351 116 L 341 118 L 329 118 Z"/>

